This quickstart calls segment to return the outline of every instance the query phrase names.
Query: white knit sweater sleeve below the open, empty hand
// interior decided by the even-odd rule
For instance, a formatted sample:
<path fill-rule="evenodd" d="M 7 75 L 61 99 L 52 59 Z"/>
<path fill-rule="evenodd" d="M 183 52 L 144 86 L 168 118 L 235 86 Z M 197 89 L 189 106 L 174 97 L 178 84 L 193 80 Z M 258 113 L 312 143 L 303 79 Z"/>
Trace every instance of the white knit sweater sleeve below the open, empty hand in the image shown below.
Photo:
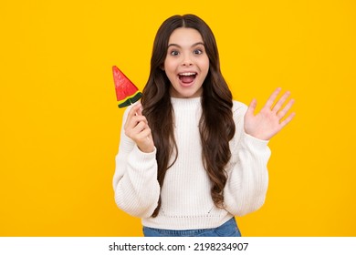
<path fill-rule="evenodd" d="M 225 209 L 236 216 L 261 208 L 268 187 L 267 162 L 271 154 L 268 141 L 245 133 L 246 110 L 246 105 L 241 103 L 234 110 L 236 135 L 230 143 L 232 158 L 226 168 L 228 178 L 224 189 Z"/>

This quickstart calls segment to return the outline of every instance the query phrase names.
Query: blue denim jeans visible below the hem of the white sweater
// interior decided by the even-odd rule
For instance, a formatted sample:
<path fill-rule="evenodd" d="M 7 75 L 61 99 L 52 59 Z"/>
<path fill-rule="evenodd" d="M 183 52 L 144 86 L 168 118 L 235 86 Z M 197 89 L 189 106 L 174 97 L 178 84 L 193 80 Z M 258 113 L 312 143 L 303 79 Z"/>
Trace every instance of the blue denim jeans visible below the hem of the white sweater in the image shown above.
<path fill-rule="evenodd" d="M 143 227 L 143 235 L 145 237 L 241 237 L 234 217 L 215 229 L 161 230 Z"/>

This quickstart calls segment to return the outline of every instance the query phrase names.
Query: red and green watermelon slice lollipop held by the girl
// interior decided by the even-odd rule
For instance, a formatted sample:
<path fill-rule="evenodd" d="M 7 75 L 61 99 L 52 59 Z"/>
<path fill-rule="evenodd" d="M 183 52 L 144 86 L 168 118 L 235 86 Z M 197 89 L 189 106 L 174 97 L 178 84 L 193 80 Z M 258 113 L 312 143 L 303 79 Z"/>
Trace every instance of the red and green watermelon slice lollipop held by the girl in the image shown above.
<path fill-rule="evenodd" d="M 141 98 L 142 94 L 139 89 L 117 66 L 112 66 L 112 74 L 114 76 L 116 97 L 120 108 L 128 107 Z"/>

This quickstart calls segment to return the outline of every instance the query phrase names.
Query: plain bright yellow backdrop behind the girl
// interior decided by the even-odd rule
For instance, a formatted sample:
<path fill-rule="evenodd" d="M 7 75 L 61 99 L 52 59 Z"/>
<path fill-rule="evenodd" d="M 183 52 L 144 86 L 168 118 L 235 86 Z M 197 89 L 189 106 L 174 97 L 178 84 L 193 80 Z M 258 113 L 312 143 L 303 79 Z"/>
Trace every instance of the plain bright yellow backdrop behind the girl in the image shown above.
<path fill-rule="evenodd" d="M 186 13 L 215 32 L 237 100 L 261 107 L 276 87 L 296 99 L 243 235 L 356 236 L 355 2 L 213 3 L 1 1 L 0 236 L 141 236 L 111 188 L 123 113 L 111 66 L 141 89 L 158 27 Z"/>

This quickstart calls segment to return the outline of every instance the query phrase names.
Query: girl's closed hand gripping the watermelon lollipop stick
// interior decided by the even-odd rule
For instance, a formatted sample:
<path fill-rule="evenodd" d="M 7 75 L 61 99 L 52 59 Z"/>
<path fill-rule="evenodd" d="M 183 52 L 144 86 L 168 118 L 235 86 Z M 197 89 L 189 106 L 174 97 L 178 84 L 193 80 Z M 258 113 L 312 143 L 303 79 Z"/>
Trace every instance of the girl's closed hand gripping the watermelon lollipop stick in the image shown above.
<path fill-rule="evenodd" d="M 153 152 L 151 128 L 148 126 L 146 117 L 142 115 L 141 104 L 137 104 L 129 111 L 124 130 L 125 135 L 131 138 L 142 152 Z"/>

